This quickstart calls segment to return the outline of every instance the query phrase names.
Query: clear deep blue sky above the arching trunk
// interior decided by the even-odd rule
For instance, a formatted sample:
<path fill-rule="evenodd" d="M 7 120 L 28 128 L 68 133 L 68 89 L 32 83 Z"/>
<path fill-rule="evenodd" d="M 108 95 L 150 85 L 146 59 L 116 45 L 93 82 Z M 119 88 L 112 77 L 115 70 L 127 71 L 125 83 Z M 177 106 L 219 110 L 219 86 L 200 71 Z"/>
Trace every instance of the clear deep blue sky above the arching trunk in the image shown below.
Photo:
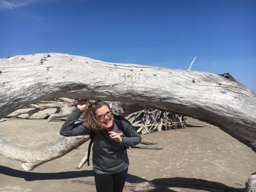
<path fill-rule="evenodd" d="M 0 57 L 68 53 L 229 72 L 256 91 L 255 0 L 0 0 Z"/>

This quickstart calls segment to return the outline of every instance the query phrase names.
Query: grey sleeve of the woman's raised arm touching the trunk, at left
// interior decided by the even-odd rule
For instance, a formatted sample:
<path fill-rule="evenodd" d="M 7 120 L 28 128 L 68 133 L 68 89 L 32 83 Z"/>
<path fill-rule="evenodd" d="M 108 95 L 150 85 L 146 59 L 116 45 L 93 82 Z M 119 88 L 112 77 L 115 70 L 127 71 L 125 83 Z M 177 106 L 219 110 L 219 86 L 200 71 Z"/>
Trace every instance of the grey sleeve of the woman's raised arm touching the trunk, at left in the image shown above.
<path fill-rule="evenodd" d="M 68 119 L 62 125 L 60 129 L 60 134 L 66 137 L 69 136 L 78 136 L 78 135 L 89 135 L 90 132 L 87 127 L 84 127 L 82 122 L 76 123 L 79 117 L 83 114 L 83 112 L 79 108 L 75 108 L 73 112 L 70 114 Z"/>

